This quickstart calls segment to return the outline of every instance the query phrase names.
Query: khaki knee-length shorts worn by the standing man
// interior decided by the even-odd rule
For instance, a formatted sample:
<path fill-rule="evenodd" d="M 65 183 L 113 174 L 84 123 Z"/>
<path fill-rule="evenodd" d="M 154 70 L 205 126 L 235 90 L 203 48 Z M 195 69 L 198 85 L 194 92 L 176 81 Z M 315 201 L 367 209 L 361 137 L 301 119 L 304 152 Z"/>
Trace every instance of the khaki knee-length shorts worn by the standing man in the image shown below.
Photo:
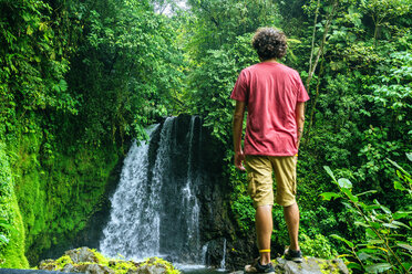
<path fill-rule="evenodd" d="M 248 193 L 255 208 L 274 204 L 272 171 L 276 178 L 276 203 L 289 207 L 296 202 L 296 156 L 246 156 Z"/>

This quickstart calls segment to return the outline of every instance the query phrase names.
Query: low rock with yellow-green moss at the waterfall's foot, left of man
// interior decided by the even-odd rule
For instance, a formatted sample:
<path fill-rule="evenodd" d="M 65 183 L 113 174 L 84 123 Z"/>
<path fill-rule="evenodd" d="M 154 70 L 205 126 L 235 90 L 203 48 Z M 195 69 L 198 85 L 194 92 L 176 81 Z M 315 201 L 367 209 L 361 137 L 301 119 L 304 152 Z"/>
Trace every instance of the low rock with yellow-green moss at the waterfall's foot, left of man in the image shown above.
<path fill-rule="evenodd" d="M 82 272 L 91 274 L 179 274 L 169 262 L 159 257 L 143 262 L 112 260 L 89 247 L 70 250 L 55 261 L 40 262 L 39 270 Z"/>

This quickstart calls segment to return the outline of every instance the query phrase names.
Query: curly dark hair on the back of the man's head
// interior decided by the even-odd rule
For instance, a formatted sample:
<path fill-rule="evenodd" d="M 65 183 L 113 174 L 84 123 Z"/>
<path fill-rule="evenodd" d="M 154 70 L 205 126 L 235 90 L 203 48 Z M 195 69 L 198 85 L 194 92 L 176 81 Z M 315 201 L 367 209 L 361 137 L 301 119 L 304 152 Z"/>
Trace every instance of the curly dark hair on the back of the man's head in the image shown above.
<path fill-rule="evenodd" d="M 281 59 L 288 49 L 285 33 L 274 28 L 258 29 L 251 44 L 261 61 Z"/>

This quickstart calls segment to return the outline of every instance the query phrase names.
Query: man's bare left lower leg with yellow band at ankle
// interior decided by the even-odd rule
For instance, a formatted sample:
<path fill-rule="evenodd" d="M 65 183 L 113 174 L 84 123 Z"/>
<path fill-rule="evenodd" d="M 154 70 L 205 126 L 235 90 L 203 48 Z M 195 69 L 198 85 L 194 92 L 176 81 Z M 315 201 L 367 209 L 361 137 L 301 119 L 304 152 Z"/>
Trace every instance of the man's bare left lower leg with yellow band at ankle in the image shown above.
<path fill-rule="evenodd" d="M 262 205 L 256 209 L 256 233 L 259 250 L 270 250 L 270 238 L 274 229 L 271 205 Z M 260 253 L 260 264 L 270 263 L 270 252 Z"/>

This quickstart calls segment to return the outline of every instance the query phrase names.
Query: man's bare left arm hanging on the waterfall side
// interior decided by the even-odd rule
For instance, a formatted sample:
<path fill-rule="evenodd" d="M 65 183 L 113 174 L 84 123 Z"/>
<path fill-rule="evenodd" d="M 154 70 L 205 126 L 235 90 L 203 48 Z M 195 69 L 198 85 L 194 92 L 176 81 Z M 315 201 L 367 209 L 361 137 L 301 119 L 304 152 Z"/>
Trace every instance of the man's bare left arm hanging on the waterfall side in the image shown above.
<path fill-rule="evenodd" d="M 245 160 L 245 155 L 241 149 L 241 133 L 245 117 L 245 102 L 236 101 L 236 108 L 234 113 L 233 122 L 233 135 L 234 135 L 234 150 L 235 150 L 235 166 L 239 170 L 245 170 L 241 164 Z"/>

